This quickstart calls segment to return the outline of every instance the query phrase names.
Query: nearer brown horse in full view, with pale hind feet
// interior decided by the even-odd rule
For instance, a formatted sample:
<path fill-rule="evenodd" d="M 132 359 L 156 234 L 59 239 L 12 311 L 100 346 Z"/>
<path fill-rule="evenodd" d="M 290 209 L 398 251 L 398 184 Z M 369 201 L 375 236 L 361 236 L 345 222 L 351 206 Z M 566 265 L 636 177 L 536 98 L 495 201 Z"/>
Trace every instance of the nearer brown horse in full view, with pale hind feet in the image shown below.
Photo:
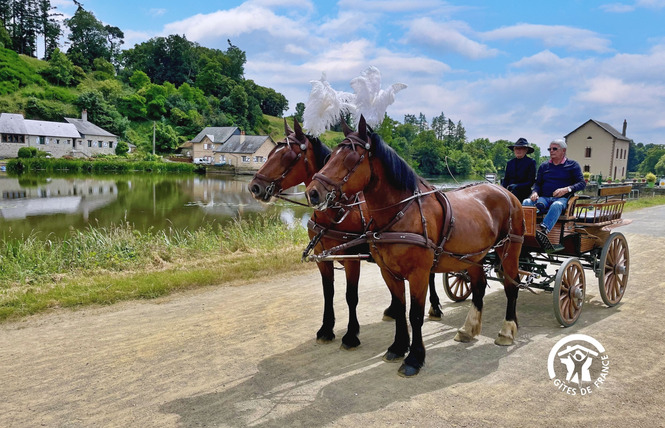
<path fill-rule="evenodd" d="M 466 270 L 473 304 L 455 340 L 467 342 L 480 333 L 487 280 L 483 257 L 499 255 L 508 300 L 506 318 L 495 343 L 511 345 L 517 333 L 518 262 L 524 235 L 520 202 L 492 184 L 443 192 L 434 190 L 401 159 L 378 134 L 367 130 L 361 117 L 358 132 L 343 124 L 343 140 L 328 163 L 307 186 L 310 205 L 325 211 L 344 195 L 363 191 L 372 217 L 368 243 L 393 296 L 400 302 L 395 340 L 384 355 L 400 360 L 403 376 L 418 374 L 425 362 L 422 340 L 427 278 L 430 272 Z M 453 220 L 454 218 L 454 220 Z M 447 221 L 446 221 L 447 220 Z M 404 281 L 409 281 L 409 347 Z"/>

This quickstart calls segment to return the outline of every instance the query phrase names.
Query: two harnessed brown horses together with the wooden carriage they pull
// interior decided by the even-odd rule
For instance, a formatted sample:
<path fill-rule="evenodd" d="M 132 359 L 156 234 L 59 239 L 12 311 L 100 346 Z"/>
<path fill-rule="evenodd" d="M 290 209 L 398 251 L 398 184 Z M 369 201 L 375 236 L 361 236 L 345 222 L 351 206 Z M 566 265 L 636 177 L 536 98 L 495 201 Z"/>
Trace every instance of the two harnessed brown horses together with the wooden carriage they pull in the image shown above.
<path fill-rule="evenodd" d="M 335 337 L 333 261 L 339 261 L 345 267 L 349 306 L 342 346 L 351 349 L 360 344 L 356 315 L 360 260 L 370 255 L 358 254 L 358 246 L 369 250 L 391 293 L 386 312 L 395 319 L 395 336 L 383 359 L 403 360 L 398 370 L 402 376 L 418 374 L 425 361 L 422 324 L 428 290 L 436 298 L 430 298 L 434 312 L 440 314 L 434 273 L 444 273 L 444 288 L 453 300 L 472 295 L 464 325 L 455 336 L 460 342 L 480 334 L 488 276 L 503 280 L 506 294 L 506 316 L 495 340 L 502 346 L 512 345 L 516 337 L 520 284 L 552 291 L 555 314 L 563 325 L 572 325 L 579 317 L 586 292 L 585 267 L 599 276 L 605 303 L 612 306 L 623 297 L 628 246 L 623 235 L 610 230 L 621 224 L 626 188 L 602 189 L 595 200 L 573 197 L 549 235 L 562 248 L 548 254 L 535 240 L 535 208 L 522 207 L 506 189 L 486 183 L 444 193 L 418 177 L 362 116 L 356 132 L 342 125 L 345 139 L 331 152 L 305 135 L 297 122 L 295 131 L 285 124 L 285 141 L 273 149 L 250 183 L 254 196 L 264 201 L 282 197 L 283 189 L 303 181 L 307 185 L 316 225 L 309 228 L 308 250 L 315 254 L 308 258 L 321 271 L 324 295 L 317 340 L 329 342 Z M 549 274 L 548 264 L 561 267 Z M 495 277 L 488 275 L 492 271 Z"/>

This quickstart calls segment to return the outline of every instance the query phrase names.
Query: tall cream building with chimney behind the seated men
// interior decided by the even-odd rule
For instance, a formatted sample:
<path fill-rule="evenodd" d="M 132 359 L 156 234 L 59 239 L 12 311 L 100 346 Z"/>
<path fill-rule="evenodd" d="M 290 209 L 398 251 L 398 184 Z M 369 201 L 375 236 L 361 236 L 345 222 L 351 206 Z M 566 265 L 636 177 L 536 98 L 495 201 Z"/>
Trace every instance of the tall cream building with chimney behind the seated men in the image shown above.
<path fill-rule="evenodd" d="M 626 137 L 627 122 L 623 121 L 623 132 L 611 125 L 589 119 L 566 135 L 566 156 L 576 160 L 582 171 L 603 178 L 623 180 L 628 172 L 628 151 L 631 139 Z"/>

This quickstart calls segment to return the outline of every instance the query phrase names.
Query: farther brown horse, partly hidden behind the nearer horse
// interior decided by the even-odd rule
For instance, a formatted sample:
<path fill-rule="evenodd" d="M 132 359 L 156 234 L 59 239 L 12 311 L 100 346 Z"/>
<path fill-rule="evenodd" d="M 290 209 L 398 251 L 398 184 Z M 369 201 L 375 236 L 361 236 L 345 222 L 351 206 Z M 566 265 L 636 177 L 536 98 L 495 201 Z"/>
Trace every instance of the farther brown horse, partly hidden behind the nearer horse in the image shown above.
<path fill-rule="evenodd" d="M 257 171 L 250 182 L 252 195 L 261 201 L 268 202 L 271 197 L 278 196 L 282 190 L 291 188 L 300 183 L 306 185 L 312 181 L 312 176 L 318 172 L 330 155 L 330 149 L 318 138 L 306 135 L 298 121 L 294 121 L 295 131 L 286 120 L 284 131 L 286 138 L 270 152 L 266 163 Z M 361 197 L 362 198 L 362 197 Z M 351 241 L 361 235 L 367 227 L 369 220 L 367 208 L 364 203 L 354 208 L 336 208 L 327 212 L 314 211 L 312 220 L 308 224 L 310 239 L 314 239 L 321 231 L 323 233 L 314 248 L 315 253 L 334 248 Z M 314 242 L 314 241 L 312 241 Z M 348 248 L 340 254 L 368 253 L 367 245 Z M 342 338 L 342 347 L 353 349 L 360 345 L 358 334 L 360 326 L 356 314 L 358 305 L 358 279 L 360 277 L 360 260 L 343 260 L 346 273 L 346 302 L 349 307 L 349 323 L 347 332 Z M 334 265 L 331 261 L 317 262 L 323 283 L 323 323 L 316 333 L 318 342 L 327 343 L 335 338 L 335 312 L 333 308 Z M 434 290 L 434 275 L 430 279 L 430 318 L 440 319 L 441 309 L 439 297 Z M 395 318 L 394 313 L 399 312 L 399 305 L 391 304 L 384 311 L 386 318 Z"/>

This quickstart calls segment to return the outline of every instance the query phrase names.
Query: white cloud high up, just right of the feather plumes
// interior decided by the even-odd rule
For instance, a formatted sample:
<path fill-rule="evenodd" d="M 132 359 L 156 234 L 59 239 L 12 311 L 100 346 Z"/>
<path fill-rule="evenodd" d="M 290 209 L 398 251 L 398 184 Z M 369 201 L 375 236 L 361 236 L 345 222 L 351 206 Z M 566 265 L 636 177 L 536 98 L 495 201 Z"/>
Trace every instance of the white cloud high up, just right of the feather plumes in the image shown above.
<path fill-rule="evenodd" d="M 466 24 L 459 22 L 435 22 L 429 17 L 417 18 L 408 23 L 404 42 L 426 44 L 444 52 L 455 52 L 471 59 L 496 56 L 499 51 L 478 43 L 462 34 Z M 433 29 L 435 29 L 433 31 Z"/>

